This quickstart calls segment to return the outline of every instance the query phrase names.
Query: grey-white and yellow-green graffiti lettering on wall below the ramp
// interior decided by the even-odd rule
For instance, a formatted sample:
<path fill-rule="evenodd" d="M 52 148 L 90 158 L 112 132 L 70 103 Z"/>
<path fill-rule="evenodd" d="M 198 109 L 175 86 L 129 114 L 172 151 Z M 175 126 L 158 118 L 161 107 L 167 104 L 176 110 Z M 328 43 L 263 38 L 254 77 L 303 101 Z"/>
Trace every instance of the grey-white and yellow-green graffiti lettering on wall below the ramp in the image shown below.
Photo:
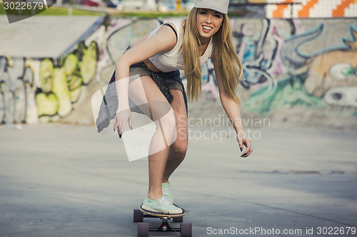
<path fill-rule="evenodd" d="M 0 57 L 0 122 L 48 122 L 68 115 L 95 78 L 98 55 L 92 41 L 58 59 Z"/>

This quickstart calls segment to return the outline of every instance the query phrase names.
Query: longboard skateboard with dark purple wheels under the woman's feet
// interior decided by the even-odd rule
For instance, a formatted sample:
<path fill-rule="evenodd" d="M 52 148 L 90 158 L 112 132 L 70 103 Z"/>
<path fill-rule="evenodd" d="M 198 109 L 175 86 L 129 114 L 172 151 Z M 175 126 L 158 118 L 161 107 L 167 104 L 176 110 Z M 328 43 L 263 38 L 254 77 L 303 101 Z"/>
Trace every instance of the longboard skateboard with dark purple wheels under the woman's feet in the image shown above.
<path fill-rule="evenodd" d="M 191 237 L 192 236 L 192 225 L 191 223 L 182 223 L 183 216 L 186 215 L 186 211 L 182 209 L 182 214 L 160 214 L 156 212 L 146 211 L 144 209 L 134 209 L 134 222 L 138 223 L 138 236 L 149 236 L 149 231 L 154 232 L 180 232 L 181 237 Z M 161 225 L 156 228 L 150 228 L 148 222 L 144 222 L 144 217 L 146 218 L 160 218 Z M 180 228 L 174 228 L 170 226 L 169 220 L 175 223 L 181 222 Z"/>

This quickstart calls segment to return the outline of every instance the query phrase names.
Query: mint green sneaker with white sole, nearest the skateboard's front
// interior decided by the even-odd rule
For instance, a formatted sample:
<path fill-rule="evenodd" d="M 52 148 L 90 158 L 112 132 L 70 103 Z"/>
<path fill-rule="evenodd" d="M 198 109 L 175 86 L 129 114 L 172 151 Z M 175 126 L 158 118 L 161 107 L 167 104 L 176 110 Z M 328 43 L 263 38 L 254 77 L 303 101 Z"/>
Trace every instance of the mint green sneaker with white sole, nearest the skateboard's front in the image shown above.
<path fill-rule="evenodd" d="M 141 205 L 141 209 L 144 211 L 152 211 L 152 212 L 159 212 L 162 214 L 182 214 L 182 209 L 174 206 L 169 201 L 162 196 L 160 199 L 155 201 L 150 200 L 147 196 L 144 199 L 143 204 Z"/>

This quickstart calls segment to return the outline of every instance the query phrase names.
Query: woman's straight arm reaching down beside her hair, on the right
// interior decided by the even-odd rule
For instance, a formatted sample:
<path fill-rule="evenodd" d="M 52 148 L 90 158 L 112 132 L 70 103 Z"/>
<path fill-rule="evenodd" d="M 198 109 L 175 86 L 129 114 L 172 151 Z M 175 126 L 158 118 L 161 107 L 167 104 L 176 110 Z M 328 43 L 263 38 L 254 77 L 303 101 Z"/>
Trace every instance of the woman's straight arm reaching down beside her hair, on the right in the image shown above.
<path fill-rule="evenodd" d="M 213 60 L 214 72 L 216 73 L 219 98 L 221 99 L 223 109 L 224 111 L 226 111 L 226 114 L 229 120 L 231 121 L 234 130 L 236 130 L 237 140 L 239 143 L 239 147 L 241 148 L 241 151 L 243 150 L 243 144 L 246 146 L 246 151 L 243 152 L 241 157 L 248 157 L 248 155 L 251 154 L 253 150 L 251 149 L 251 139 L 249 139 L 246 136 L 246 133 L 243 130 L 243 125 L 241 120 L 241 110 L 236 100 L 230 98 L 226 93 L 226 90 L 223 86 L 223 78 L 221 77 L 221 73 L 218 68 L 218 63 L 214 55 L 212 55 L 212 60 Z"/>

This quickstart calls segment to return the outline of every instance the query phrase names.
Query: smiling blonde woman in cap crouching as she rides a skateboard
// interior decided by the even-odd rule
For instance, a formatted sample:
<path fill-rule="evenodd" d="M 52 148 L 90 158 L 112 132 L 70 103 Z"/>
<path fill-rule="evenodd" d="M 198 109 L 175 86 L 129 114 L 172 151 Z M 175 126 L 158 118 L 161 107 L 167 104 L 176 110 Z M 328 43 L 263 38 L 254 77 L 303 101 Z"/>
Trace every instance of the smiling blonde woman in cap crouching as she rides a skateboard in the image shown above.
<path fill-rule="evenodd" d="M 149 191 L 141 206 L 146 211 L 181 214 L 173 205 L 169 177 L 181 164 L 188 145 L 187 102 L 178 70 L 187 78 L 188 98 L 201 93 L 201 65 L 212 58 L 221 103 L 237 132 L 242 157 L 253 149 L 241 125 L 236 96 L 241 63 L 231 41 L 228 0 L 196 1 L 185 20 L 156 28 L 133 43 L 116 61 L 119 107 L 114 130 L 132 129 L 129 98 L 156 123 L 149 148 Z M 136 80 L 129 78 L 140 75 Z M 164 194 L 164 195 L 163 195 Z"/>

